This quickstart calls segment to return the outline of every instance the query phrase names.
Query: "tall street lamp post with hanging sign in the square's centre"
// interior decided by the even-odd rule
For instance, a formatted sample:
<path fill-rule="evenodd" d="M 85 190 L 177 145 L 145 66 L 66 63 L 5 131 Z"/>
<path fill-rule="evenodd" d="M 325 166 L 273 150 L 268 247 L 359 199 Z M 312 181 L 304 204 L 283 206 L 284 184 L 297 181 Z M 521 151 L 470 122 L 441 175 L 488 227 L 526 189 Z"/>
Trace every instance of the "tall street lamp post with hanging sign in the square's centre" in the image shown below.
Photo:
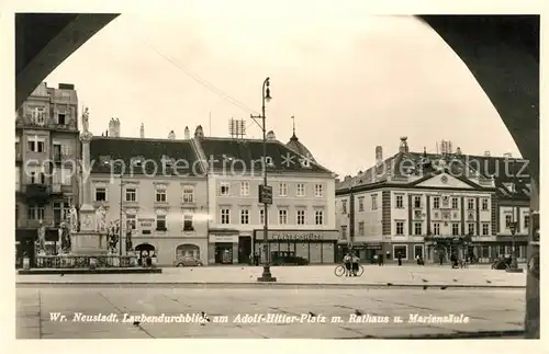
<path fill-rule="evenodd" d="M 261 90 L 261 116 L 254 116 L 251 118 L 261 118 L 261 130 L 264 133 L 264 184 L 259 186 L 259 203 L 264 204 L 264 272 L 260 277 L 257 278 L 258 282 L 277 282 L 277 278 L 272 276 L 270 270 L 270 256 L 269 256 L 269 215 L 268 205 L 272 204 L 272 187 L 267 185 L 267 128 L 265 124 L 265 103 L 271 100 L 270 89 L 269 89 L 269 78 L 264 81 Z"/>

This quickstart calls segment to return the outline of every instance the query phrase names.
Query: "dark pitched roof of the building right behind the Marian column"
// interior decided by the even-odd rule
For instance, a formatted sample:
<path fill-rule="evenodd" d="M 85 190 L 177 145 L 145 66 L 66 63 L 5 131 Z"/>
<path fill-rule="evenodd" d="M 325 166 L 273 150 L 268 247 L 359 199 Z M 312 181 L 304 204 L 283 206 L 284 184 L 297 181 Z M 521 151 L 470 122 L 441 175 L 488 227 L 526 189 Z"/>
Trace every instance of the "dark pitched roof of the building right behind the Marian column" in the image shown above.
<path fill-rule="evenodd" d="M 134 174 L 161 175 L 166 171 L 166 175 L 184 176 L 202 173 L 191 140 L 93 137 L 90 158 L 96 173 L 110 173 L 111 167 L 114 173 L 120 173 L 121 163 L 114 163 L 115 160 L 124 161 L 125 173 L 130 173 L 132 165 Z M 171 167 L 167 163 L 164 168 L 169 160 Z"/>

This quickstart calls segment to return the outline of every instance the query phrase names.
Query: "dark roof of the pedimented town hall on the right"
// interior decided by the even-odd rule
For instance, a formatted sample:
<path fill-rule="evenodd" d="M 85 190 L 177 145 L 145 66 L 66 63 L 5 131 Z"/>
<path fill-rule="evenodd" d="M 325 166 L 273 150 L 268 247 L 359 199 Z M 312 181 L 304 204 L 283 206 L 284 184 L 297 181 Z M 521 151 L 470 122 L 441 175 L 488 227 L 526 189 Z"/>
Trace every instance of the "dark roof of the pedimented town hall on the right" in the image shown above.
<path fill-rule="evenodd" d="M 336 185 L 337 191 L 365 185 L 383 185 L 391 179 L 391 183 L 399 183 L 399 176 L 414 173 L 430 161 L 432 165 L 446 164 L 448 173 L 466 180 L 468 176 L 490 179 L 493 176 L 496 194 L 501 198 L 529 198 L 529 171 L 527 161 L 506 157 L 484 157 L 466 155 L 439 155 L 425 152 L 400 151 L 380 163 L 358 173 L 356 176 L 346 176 Z M 444 162 L 441 162 L 444 161 Z M 525 165 L 526 163 L 526 165 Z M 425 169 L 424 169 L 424 172 Z M 410 184 L 406 179 L 401 183 Z"/>

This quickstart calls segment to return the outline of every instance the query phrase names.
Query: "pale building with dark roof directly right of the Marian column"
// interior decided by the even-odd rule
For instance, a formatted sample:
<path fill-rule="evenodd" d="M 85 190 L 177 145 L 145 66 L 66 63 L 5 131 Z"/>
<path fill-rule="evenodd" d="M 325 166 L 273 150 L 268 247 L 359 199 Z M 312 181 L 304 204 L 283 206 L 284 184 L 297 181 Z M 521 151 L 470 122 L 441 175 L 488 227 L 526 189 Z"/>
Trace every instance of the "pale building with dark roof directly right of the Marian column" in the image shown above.
<path fill-rule="evenodd" d="M 117 129 L 111 121 L 109 136 L 91 140 L 94 207 L 108 222 L 122 220 L 123 235 L 131 228 L 138 255 L 156 254 L 160 266 L 183 256 L 208 264 L 208 189 L 192 141 L 123 138 Z"/>

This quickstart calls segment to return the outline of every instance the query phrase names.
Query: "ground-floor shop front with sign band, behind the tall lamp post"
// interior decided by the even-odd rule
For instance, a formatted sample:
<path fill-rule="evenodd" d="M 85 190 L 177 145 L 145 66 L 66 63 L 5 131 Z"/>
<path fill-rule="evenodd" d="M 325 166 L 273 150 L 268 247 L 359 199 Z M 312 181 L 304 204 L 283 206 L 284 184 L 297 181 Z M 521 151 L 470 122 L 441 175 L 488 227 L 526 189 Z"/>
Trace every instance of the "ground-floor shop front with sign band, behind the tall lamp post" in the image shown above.
<path fill-rule="evenodd" d="M 335 263 L 338 230 L 269 230 L 268 255 L 273 263 L 288 260 L 309 264 Z M 264 258 L 264 230 L 254 230 L 254 250 Z M 277 262 L 274 262 L 277 261 Z"/>

